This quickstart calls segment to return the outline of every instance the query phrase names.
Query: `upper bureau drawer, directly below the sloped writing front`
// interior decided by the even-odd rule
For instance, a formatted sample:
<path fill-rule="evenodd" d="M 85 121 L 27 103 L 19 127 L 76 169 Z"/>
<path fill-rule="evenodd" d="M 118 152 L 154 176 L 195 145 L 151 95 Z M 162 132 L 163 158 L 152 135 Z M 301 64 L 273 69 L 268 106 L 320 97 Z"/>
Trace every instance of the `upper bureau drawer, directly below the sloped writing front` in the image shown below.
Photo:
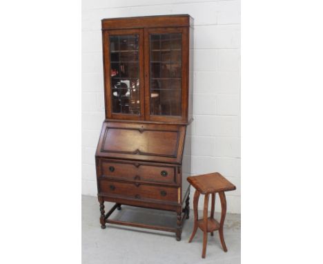
<path fill-rule="evenodd" d="M 118 180 L 175 183 L 175 168 L 139 163 L 118 163 L 101 160 L 101 174 Z"/>

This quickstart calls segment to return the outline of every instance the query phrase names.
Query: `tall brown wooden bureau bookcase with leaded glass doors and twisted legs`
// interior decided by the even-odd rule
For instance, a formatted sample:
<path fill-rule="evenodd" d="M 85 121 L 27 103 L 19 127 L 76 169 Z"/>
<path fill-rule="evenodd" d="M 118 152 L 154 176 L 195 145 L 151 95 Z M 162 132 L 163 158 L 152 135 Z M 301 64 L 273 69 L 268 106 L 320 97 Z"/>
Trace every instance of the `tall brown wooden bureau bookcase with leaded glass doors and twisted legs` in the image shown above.
<path fill-rule="evenodd" d="M 95 162 L 100 223 L 175 232 L 189 215 L 193 18 L 103 19 L 104 96 Z M 106 213 L 104 202 L 115 202 Z M 121 205 L 174 211 L 173 227 L 109 216 Z"/>

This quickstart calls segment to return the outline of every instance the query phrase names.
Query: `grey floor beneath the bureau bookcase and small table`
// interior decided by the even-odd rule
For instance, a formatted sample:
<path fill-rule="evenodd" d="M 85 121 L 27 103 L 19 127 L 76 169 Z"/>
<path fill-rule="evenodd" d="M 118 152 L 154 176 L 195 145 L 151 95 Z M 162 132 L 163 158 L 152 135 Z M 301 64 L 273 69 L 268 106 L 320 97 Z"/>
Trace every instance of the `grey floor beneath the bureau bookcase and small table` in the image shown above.
<path fill-rule="evenodd" d="M 112 207 L 105 202 L 106 212 Z M 228 205 L 229 207 L 230 205 Z M 202 216 L 202 212 L 199 215 Z M 159 263 L 240 263 L 240 215 L 227 214 L 224 223 L 224 238 L 228 252 L 224 252 L 219 235 L 208 235 L 206 258 L 202 258 L 202 238 L 200 229 L 192 243 L 188 238 L 193 230 L 193 210 L 185 221 L 182 241 L 176 241 L 175 233 L 159 232 L 151 229 L 99 224 L 99 202 L 97 198 L 82 196 L 82 263 L 83 264 L 159 264 Z M 215 214 L 219 219 L 219 214 Z M 122 206 L 115 210 L 111 219 L 176 225 L 175 212 Z"/>

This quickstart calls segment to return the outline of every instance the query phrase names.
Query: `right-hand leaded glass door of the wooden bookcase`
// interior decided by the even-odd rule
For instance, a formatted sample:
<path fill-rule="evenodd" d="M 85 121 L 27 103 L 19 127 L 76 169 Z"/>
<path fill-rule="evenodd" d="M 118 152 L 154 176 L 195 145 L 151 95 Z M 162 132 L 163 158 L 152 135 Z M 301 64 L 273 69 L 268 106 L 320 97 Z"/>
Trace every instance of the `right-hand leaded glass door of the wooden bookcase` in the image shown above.
<path fill-rule="evenodd" d="M 186 122 L 187 28 L 145 29 L 146 120 Z"/>

